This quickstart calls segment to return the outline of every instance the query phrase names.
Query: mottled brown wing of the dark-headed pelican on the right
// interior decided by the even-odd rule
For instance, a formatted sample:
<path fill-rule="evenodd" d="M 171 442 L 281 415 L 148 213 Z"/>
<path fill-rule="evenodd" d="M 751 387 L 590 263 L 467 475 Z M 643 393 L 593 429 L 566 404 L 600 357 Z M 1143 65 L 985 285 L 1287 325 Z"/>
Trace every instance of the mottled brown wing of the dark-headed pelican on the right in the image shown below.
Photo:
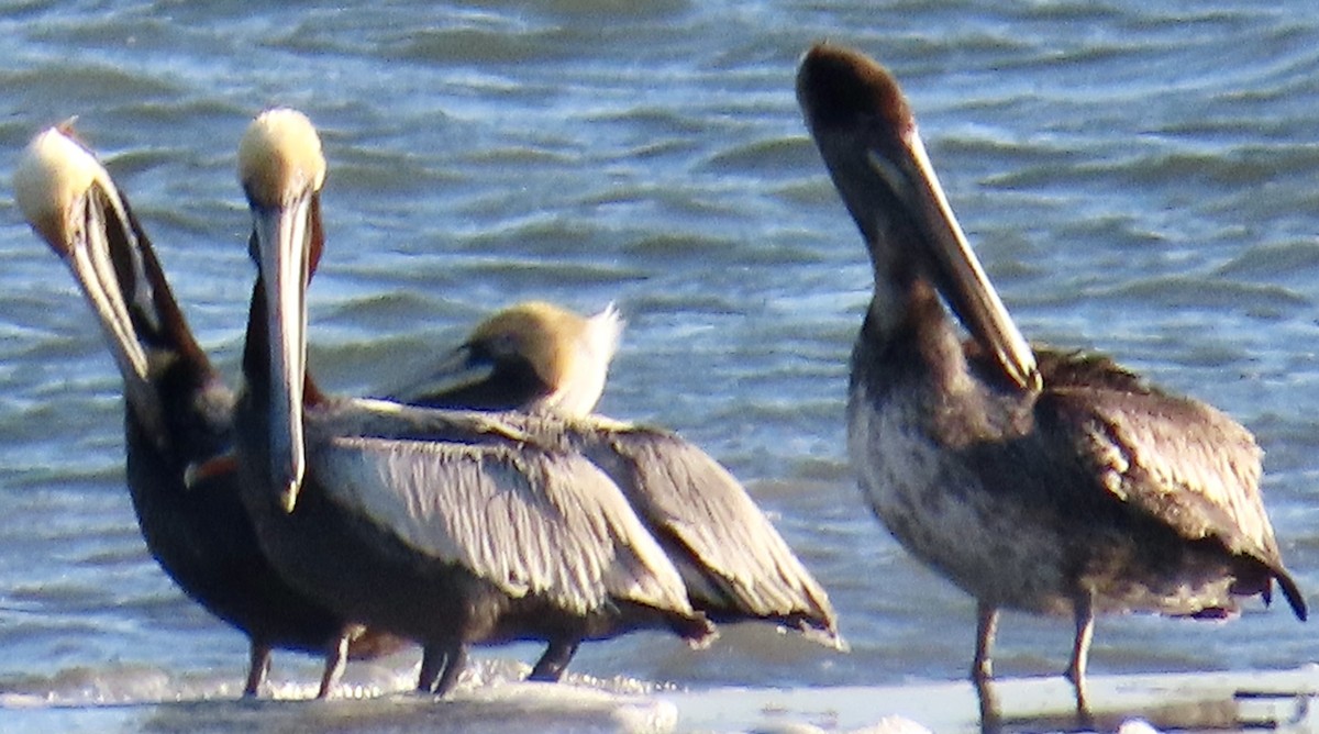
<path fill-rule="evenodd" d="M 1281 568 L 1260 495 L 1264 452 L 1249 431 L 1107 358 L 1075 354 L 1051 366 L 1037 416 L 1057 423 L 1064 451 L 1092 465 L 1105 490 L 1184 538 L 1217 538 Z"/>

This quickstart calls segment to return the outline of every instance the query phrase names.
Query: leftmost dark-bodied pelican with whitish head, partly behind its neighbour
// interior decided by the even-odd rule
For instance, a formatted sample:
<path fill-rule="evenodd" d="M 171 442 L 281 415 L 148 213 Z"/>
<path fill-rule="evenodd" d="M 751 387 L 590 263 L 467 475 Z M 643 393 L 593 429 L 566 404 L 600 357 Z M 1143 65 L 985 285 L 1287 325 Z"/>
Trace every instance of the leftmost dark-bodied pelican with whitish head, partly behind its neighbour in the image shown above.
<path fill-rule="evenodd" d="M 73 271 L 123 374 L 128 489 L 148 550 L 189 597 L 251 640 L 244 694 L 265 681 L 272 648 L 326 655 L 323 697 L 346 655 L 401 647 L 397 638 L 346 627 L 285 584 L 257 550 L 232 461 L 214 461 L 233 438 L 232 394 L 193 339 L 106 169 L 51 128 L 24 154 L 15 190 L 33 229 Z M 208 461 L 214 469 L 189 484 L 189 469 Z"/>

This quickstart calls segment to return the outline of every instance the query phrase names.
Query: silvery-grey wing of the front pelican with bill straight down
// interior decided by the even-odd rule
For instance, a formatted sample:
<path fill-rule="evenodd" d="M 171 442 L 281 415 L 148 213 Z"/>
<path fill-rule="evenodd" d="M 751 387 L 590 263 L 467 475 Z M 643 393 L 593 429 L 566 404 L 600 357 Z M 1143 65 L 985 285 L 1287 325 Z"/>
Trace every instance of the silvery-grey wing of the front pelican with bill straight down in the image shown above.
<path fill-rule="evenodd" d="M 692 613 L 678 571 L 584 459 L 363 435 L 309 447 L 331 501 L 510 596 L 543 596 L 574 613 L 611 600 Z"/>

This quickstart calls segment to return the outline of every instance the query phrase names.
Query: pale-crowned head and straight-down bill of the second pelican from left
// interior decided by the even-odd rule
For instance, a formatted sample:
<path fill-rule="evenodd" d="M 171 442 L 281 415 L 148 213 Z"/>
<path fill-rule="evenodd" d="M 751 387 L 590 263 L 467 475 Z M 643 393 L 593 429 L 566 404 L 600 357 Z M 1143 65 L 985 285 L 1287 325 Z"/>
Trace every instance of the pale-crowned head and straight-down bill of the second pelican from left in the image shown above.
<path fill-rule="evenodd" d="M 270 480 L 281 488 L 290 513 L 306 466 L 306 289 L 321 257 L 319 192 L 324 175 L 321 137 L 301 112 L 262 112 L 239 145 L 239 182 L 252 210 L 251 249 L 266 306 Z"/>

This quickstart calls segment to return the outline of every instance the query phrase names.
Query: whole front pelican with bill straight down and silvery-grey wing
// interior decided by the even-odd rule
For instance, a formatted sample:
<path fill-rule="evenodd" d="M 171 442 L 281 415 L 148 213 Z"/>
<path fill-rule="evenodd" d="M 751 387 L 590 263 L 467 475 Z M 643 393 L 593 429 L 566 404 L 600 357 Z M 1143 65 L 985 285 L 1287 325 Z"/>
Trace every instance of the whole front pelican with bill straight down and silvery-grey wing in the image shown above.
<path fill-rule="evenodd" d="M 310 121 L 262 113 L 239 177 L 253 216 L 244 505 L 266 556 L 348 619 L 423 644 L 446 692 L 470 643 L 575 646 L 636 629 L 706 640 L 678 569 L 619 488 L 500 414 L 330 397 L 306 370 L 306 286 L 323 246 Z"/>

